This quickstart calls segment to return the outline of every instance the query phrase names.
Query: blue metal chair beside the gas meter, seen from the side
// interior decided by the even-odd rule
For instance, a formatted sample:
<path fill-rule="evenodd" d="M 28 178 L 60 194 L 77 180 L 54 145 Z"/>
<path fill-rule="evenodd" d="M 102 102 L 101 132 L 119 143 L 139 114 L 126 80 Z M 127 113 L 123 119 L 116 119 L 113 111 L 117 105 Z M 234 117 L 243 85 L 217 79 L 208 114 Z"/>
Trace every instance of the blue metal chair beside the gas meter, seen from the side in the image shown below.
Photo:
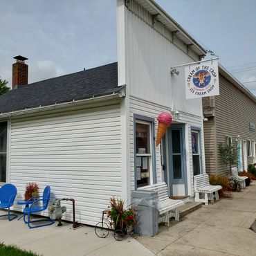
<path fill-rule="evenodd" d="M 54 223 L 54 221 L 52 221 L 51 219 L 46 219 L 46 218 L 37 219 L 35 221 L 31 221 L 30 219 L 31 217 L 30 214 L 33 214 L 35 212 L 42 212 L 47 209 L 48 202 L 50 200 L 50 195 L 51 195 L 51 188 L 50 186 L 46 186 L 46 188 L 44 189 L 43 196 L 33 196 L 30 199 L 28 199 L 28 207 L 24 208 L 23 213 L 24 213 L 24 222 L 28 224 L 29 228 L 39 228 L 43 226 L 49 226 Z M 37 199 L 37 200 L 33 201 L 34 199 Z M 31 201 L 33 201 L 33 203 L 31 203 Z M 39 202 L 42 202 L 42 204 L 38 205 Z M 28 216 L 27 221 L 26 221 L 26 215 Z M 35 223 L 39 221 L 46 221 L 46 223 L 43 223 L 41 225 L 36 225 L 36 226 L 30 226 L 30 223 Z"/>

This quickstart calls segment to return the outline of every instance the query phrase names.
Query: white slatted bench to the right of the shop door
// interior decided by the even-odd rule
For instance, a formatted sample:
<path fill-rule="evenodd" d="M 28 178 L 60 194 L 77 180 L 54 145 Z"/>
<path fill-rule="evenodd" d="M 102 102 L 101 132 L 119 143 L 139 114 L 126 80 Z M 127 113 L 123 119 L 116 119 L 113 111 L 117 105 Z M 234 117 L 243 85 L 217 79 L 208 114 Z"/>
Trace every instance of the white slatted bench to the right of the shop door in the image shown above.
<path fill-rule="evenodd" d="M 219 200 L 218 190 L 221 190 L 221 185 L 210 185 L 208 174 L 199 174 L 194 176 L 194 192 L 196 202 L 203 202 L 208 205 L 208 199 L 214 203 L 214 197 Z M 203 194 L 203 198 L 200 198 Z"/>

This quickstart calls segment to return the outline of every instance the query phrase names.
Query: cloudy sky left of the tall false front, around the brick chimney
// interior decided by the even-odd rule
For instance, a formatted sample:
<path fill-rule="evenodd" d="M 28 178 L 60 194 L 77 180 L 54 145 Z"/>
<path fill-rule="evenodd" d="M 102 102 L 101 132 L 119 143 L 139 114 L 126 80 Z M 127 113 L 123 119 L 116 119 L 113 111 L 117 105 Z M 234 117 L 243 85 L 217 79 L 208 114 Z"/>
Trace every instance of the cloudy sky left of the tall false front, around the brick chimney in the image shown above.
<path fill-rule="evenodd" d="M 1 0 L 0 76 L 28 58 L 28 82 L 115 62 L 116 0 Z"/>

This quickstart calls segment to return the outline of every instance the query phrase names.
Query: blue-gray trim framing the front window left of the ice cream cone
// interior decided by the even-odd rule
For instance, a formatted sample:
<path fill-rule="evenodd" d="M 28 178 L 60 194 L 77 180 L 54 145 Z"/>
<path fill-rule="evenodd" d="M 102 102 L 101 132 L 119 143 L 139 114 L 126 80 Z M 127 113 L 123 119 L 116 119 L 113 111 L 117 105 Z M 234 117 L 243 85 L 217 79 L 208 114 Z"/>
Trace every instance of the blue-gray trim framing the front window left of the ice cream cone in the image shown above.
<path fill-rule="evenodd" d="M 154 147 L 155 144 L 155 120 L 154 118 L 149 118 L 147 116 L 142 116 L 142 115 L 138 115 L 138 114 L 134 114 L 134 190 L 137 190 L 137 182 L 136 182 L 136 176 L 135 176 L 135 172 L 136 172 L 136 156 L 138 154 L 136 154 L 136 122 L 138 123 L 146 123 L 149 124 L 150 127 L 150 152 L 151 152 L 151 163 L 149 163 L 149 166 L 152 169 L 152 179 L 150 180 L 150 184 L 156 184 L 157 183 L 157 174 L 156 174 L 156 147 Z M 139 154 L 139 155 L 143 155 L 146 156 L 148 154 Z M 150 159 L 150 158 L 149 158 Z M 142 187 L 143 188 L 143 187 Z"/>

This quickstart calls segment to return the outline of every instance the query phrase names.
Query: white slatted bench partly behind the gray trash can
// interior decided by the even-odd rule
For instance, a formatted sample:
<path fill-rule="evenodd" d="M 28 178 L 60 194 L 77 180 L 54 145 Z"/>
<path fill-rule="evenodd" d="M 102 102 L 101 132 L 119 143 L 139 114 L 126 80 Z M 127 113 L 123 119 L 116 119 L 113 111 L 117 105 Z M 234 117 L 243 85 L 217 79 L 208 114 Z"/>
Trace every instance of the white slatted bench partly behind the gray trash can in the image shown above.
<path fill-rule="evenodd" d="M 159 214 L 158 223 L 164 222 L 167 223 L 168 226 L 170 226 L 170 217 L 174 217 L 176 221 L 179 221 L 178 207 L 183 205 L 184 202 L 182 200 L 173 200 L 169 198 L 168 188 L 165 182 L 147 185 L 145 187 L 138 188 L 138 190 L 157 192 Z"/>

